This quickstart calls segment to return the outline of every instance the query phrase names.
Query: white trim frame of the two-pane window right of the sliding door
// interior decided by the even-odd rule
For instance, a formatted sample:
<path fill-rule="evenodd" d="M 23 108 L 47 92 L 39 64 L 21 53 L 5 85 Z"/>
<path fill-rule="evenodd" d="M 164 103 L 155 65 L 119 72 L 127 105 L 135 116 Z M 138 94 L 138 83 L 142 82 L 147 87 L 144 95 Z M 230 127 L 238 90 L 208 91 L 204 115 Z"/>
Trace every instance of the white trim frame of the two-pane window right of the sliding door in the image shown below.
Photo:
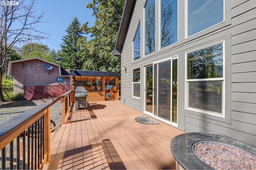
<path fill-rule="evenodd" d="M 223 54 L 223 77 L 222 78 L 202 78 L 202 79 L 188 79 L 187 78 L 187 66 L 188 66 L 188 63 L 187 63 L 187 54 L 188 53 L 191 53 L 193 51 L 198 51 L 200 49 L 205 49 L 207 47 L 211 47 L 211 46 L 214 46 L 214 45 L 218 45 L 218 44 L 223 44 L 223 51 L 222 51 L 222 54 Z M 222 113 L 216 113 L 216 112 L 213 112 L 213 111 L 207 111 L 207 110 L 202 110 L 202 109 L 196 109 L 194 107 L 188 107 L 188 82 L 199 82 L 199 81 L 222 81 Z M 214 44 L 211 44 L 211 45 L 207 45 L 207 46 L 204 46 L 204 47 L 201 47 L 201 48 L 198 48 L 198 49 L 194 49 L 194 50 L 191 50 L 191 51 L 188 51 L 185 53 L 185 109 L 188 109 L 188 110 L 191 110 L 191 111 L 196 111 L 196 112 L 200 112 L 200 113 L 205 113 L 205 114 L 208 114 L 208 115 L 214 115 L 216 117 L 222 117 L 222 118 L 225 118 L 225 41 L 220 41 L 218 43 L 214 43 Z"/>

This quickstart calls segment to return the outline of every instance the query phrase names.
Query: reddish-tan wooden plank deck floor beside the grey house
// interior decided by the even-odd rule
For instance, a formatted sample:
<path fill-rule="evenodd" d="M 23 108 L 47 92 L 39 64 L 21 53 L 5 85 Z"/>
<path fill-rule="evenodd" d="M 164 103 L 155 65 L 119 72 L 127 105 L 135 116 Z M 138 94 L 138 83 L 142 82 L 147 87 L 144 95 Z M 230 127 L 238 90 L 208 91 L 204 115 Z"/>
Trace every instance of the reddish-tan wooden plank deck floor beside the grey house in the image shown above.
<path fill-rule="evenodd" d="M 176 169 L 171 140 L 182 133 L 166 123 L 136 122 L 139 111 L 120 101 L 89 102 L 51 134 L 51 162 L 44 169 Z M 149 117 L 149 116 L 147 116 Z"/>

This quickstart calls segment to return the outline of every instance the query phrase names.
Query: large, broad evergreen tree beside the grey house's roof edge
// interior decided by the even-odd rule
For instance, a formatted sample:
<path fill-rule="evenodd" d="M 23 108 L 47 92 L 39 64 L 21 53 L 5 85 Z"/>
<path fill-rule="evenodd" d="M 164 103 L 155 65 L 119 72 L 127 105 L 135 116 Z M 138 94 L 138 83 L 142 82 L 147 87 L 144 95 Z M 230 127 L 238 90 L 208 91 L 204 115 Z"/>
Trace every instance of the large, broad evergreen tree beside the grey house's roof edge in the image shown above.
<path fill-rule="evenodd" d="M 113 56 L 124 0 L 93 0 L 87 8 L 93 9 L 94 26 L 84 23 L 83 30 L 92 39 L 80 39 L 83 51 L 84 70 L 120 72 L 120 57 Z"/>

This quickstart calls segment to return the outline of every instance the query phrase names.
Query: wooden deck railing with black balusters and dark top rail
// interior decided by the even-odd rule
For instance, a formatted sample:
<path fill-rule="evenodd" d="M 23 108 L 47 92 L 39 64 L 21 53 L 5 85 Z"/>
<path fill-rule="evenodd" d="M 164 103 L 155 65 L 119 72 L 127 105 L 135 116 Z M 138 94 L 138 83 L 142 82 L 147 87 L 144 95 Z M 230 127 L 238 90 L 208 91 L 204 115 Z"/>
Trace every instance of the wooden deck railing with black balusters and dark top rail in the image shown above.
<path fill-rule="evenodd" d="M 73 90 L 53 102 L 40 104 L 0 128 L 0 169 L 42 169 L 50 162 L 50 132 L 65 123 L 73 101 Z M 62 102 L 61 123 L 50 129 L 50 107 Z"/>

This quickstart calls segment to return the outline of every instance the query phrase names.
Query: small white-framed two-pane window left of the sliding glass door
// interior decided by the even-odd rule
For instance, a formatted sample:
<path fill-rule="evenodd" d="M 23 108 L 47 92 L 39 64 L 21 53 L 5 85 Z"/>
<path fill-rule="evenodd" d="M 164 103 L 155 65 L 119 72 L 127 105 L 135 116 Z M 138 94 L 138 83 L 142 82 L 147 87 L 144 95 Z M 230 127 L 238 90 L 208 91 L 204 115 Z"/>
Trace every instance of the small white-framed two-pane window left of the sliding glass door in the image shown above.
<path fill-rule="evenodd" d="M 140 68 L 132 70 L 132 96 L 140 98 Z"/>

